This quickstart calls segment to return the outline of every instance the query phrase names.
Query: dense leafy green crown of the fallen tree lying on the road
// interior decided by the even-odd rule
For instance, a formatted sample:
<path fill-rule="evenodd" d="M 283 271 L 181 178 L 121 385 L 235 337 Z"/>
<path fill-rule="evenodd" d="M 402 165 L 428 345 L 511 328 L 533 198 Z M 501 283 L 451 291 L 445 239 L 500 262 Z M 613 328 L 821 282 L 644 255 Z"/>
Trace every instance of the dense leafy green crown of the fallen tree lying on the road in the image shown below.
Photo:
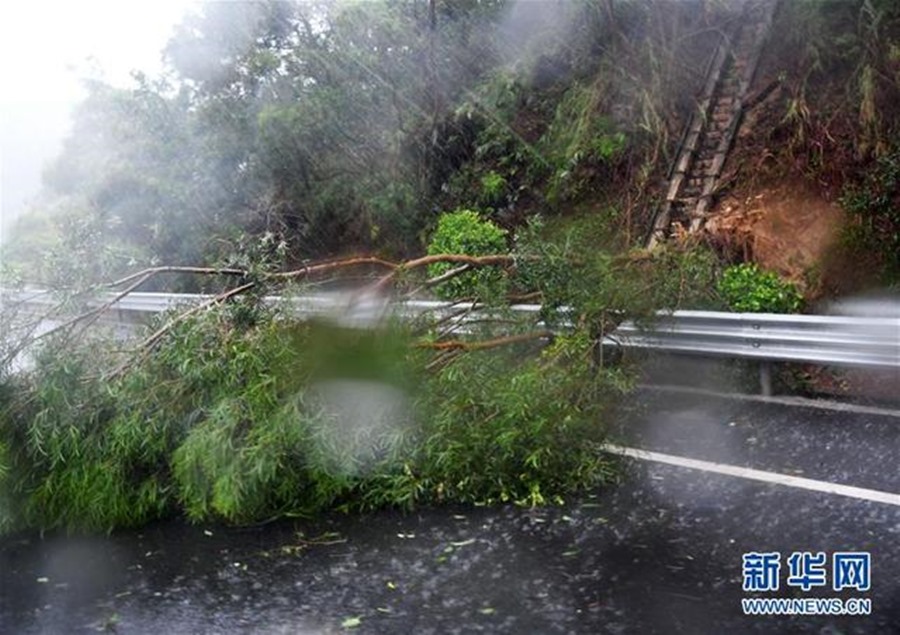
<path fill-rule="evenodd" d="M 434 360 L 407 333 L 229 307 L 116 378 L 94 343 L 0 385 L 0 531 L 560 499 L 609 474 L 590 340 Z M 110 344 L 109 348 L 119 344 Z"/>

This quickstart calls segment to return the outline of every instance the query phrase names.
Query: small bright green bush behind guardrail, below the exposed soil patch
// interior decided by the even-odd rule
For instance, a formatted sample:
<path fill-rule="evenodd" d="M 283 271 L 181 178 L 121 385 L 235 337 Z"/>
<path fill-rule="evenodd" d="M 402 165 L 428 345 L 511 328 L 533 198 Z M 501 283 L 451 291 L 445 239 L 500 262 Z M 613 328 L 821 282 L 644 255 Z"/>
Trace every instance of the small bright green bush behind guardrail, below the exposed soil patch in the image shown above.
<path fill-rule="evenodd" d="M 803 297 L 797 287 L 755 263 L 728 267 L 718 282 L 728 308 L 746 313 L 796 313 Z"/>

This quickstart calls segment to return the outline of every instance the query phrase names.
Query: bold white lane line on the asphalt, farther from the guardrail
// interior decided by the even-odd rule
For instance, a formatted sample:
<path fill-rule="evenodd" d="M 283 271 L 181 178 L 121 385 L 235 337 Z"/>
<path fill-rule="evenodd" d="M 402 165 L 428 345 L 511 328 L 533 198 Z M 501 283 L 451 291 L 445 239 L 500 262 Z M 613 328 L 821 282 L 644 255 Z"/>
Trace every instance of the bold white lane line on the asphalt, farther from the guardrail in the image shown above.
<path fill-rule="evenodd" d="M 856 498 L 859 500 L 867 500 L 874 503 L 885 503 L 887 505 L 895 505 L 897 507 L 900 507 L 900 494 L 892 494 L 890 492 L 882 492 L 880 490 L 866 489 L 863 487 L 853 487 L 851 485 L 840 485 L 838 483 L 830 483 L 828 481 L 817 481 L 811 478 L 802 478 L 800 476 L 791 476 L 789 474 L 779 474 L 778 472 L 754 470 L 749 467 L 728 465 L 727 463 L 701 461 L 699 459 L 690 459 L 684 456 L 676 456 L 674 454 L 663 454 L 662 452 L 652 452 L 650 450 L 640 450 L 638 448 L 627 448 L 611 443 L 604 444 L 603 451 L 609 452 L 610 454 L 617 454 L 619 456 L 627 456 L 633 459 L 640 459 L 642 461 L 666 463 L 668 465 L 686 467 L 692 470 L 702 470 L 704 472 L 713 472 L 715 474 L 725 474 L 726 476 L 746 478 L 753 481 L 772 483 L 774 485 L 797 487 L 800 489 L 811 490 L 813 492 L 822 492 L 825 494 L 837 494 L 838 496 L 848 496 L 850 498 Z"/>

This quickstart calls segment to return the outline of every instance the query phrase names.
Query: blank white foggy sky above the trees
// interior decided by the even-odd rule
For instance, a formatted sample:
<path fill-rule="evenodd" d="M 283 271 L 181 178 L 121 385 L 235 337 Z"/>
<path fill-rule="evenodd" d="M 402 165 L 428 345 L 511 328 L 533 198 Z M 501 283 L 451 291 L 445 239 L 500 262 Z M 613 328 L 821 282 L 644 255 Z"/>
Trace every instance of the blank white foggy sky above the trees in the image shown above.
<path fill-rule="evenodd" d="M 161 50 L 196 2 L 47 0 L 0 4 L 0 241 L 35 200 L 62 147 L 82 82 L 127 86 L 162 71 Z"/>

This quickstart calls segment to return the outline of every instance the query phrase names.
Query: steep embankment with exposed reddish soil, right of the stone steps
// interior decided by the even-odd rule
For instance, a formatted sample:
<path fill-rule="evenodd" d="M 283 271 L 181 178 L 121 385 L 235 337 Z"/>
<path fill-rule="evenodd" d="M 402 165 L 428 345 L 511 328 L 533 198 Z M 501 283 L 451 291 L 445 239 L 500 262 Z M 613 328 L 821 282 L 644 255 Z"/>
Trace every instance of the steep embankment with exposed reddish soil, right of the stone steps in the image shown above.
<path fill-rule="evenodd" d="M 900 6 L 782 2 L 723 178 L 714 243 L 811 297 L 900 281 Z"/>

